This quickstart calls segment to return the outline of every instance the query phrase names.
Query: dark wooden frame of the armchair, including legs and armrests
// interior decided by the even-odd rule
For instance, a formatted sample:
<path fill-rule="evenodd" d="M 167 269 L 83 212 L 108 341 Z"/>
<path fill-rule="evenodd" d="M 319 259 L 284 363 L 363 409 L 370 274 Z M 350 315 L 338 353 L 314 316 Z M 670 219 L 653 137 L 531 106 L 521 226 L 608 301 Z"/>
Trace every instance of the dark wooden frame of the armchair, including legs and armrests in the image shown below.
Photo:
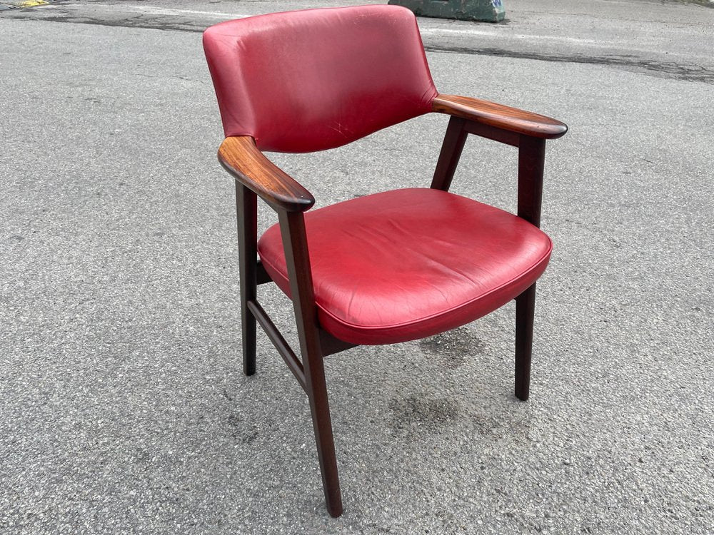
<path fill-rule="evenodd" d="M 442 93 L 433 98 L 431 111 L 451 116 L 431 188 L 448 191 L 468 134 L 505 143 L 518 148 L 517 215 L 539 227 L 545 141 L 563 136 L 567 126 L 536 113 Z M 253 136 L 227 136 L 218 150 L 218 160 L 236 180 L 243 371 L 246 375 L 256 372 L 256 327 L 260 324 L 307 394 L 328 513 L 340 516 L 343 505 L 323 357 L 357 344 L 331 335 L 318 320 L 304 217 L 315 199 L 263 155 Z M 273 282 L 258 260 L 258 198 L 278 215 L 301 358 L 258 302 L 258 285 Z M 535 282 L 515 299 L 515 393 L 518 399 L 526 400 L 530 391 Z"/>

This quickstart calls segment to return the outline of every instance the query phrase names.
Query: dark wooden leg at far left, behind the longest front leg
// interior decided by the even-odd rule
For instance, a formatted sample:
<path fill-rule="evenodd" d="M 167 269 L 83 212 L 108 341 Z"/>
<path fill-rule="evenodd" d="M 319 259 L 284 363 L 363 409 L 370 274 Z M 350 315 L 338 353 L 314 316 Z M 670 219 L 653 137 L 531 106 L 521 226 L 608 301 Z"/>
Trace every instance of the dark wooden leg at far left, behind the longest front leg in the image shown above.
<path fill-rule="evenodd" d="M 256 318 L 248 310 L 248 301 L 257 296 L 258 201 L 256 194 L 236 180 L 236 215 L 238 218 L 238 266 L 241 275 L 241 332 L 243 337 L 243 372 L 256 372 Z"/>

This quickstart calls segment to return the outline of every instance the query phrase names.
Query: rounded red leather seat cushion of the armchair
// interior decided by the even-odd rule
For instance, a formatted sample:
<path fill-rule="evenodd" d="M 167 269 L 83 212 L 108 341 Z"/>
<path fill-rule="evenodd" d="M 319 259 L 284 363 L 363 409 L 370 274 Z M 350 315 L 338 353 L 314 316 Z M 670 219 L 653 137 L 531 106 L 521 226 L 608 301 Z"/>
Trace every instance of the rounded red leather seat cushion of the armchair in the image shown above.
<path fill-rule="evenodd" d="M 356 344 L 405 342 L 476 320 L 533 284 L 552 248 L 516 215 L 426 188 L 312 210 L 305 223 L 320 323 Z M 258 253 L 290 295 L 278 225 Z"/>

